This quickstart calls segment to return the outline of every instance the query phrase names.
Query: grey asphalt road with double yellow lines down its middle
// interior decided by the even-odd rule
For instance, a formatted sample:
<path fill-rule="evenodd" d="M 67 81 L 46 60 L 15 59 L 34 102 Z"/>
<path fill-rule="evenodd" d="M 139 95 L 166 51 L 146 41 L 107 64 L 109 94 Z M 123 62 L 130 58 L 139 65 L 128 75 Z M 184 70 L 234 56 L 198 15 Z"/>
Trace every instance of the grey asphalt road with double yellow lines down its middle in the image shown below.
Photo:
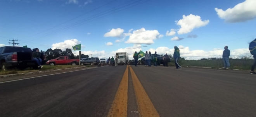
<path fill-rule="evenodd" d="M 0 117 L 126 116 L 256 117 L 256 75 L 107 66 L 0 83 Z"/>

